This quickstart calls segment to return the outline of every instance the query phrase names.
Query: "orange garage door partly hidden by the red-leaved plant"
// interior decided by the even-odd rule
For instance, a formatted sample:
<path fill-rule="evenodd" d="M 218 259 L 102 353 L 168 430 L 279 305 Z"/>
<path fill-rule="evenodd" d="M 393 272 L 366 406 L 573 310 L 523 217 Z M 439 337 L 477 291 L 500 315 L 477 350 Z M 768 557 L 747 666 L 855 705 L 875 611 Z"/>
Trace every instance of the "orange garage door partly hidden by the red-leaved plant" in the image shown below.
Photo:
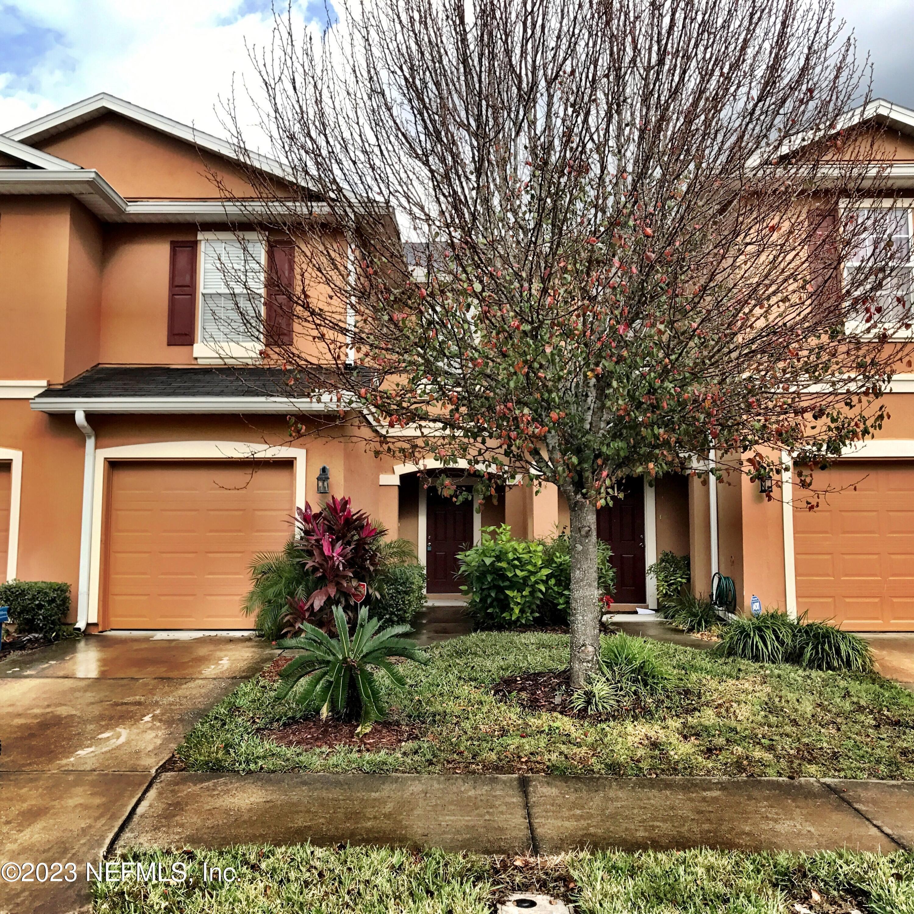
<path fill-rule="evenodd" d="M 108 625 L 244 629 L 258 552 L 292 533 L 292 462 L 123 462 L 109 490 Z"/>

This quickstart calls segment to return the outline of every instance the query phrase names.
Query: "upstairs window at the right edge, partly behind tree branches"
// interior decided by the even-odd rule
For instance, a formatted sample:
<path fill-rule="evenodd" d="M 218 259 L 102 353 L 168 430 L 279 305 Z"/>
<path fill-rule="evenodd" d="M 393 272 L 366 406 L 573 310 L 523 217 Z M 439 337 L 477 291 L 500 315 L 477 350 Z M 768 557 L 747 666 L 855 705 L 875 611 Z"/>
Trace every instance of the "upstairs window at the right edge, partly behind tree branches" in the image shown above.
<path fill-rule="evenodd" d="M 911 254 L 912 211 L 908 208 L 892 207 L 891 209 L 860 208 L 860 218 L 871 225 L 845 263 L 845 283 L 848 292 L 853 277 L 867 260 L 878 258 L 880 263 L 888 263 L 888 269 L 882 278 L 882 288 L 877 293 L 876 301 L 864 305 L 861 314 L 855 315 L 853 323 L 857 329 L 863 325 L 876 327 L 888 324 L 898 328 L 899 335 L 908 335 L 901 324 L 909 324 L 912 314 L 911 305 L 914 298 L 914 259 Z M 885 251 L 888 256 L 886 257 Z M 869 282 L 869 281 L 867 281 Z"/>

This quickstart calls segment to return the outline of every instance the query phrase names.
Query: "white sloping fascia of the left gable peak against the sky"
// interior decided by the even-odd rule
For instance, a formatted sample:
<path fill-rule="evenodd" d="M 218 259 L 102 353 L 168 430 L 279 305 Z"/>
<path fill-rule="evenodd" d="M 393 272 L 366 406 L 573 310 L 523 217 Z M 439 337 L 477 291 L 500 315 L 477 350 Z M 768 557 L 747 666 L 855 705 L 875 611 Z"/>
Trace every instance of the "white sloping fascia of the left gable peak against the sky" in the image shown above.
<path fill-rule="evenodd" d="M 107 92 L 99 92 L 97 95 L 82 101 L 76 101 L 66 108 L 61 108 L 59 111 L 51 112 L 44 117 L 24 123 L 13 130 L 7 131 L 5 136 L 11 140 L 16 140 L 18 143 L 38 143 L 47 137 L 54 136 L 56 133 L 61 133 L 70 126 L 94 120 L 94 118 L 100 117 L 106 112 L 120 114 L 130 121 L 142 123 L 144 126 L 151 127 L 160 133 L 167 133 L 169 136 L 174 136 L 175 139 L 192 143 L 200 149 L 206 149 L 208 152 L 216 153 L 235 162 L 239 161 L 238 151 L 228 141 L 221 140 L 211 133 L 197 130 L 196 127 L 189 127 L 185 123 L 173 121 L 170 117 L 165 117 L 164 114 L 151 112 L 147 108 L 141 108 L 131 101 L 124 101 L 114 95 L 109 95 Z M 246 155 L 250 159 L 250 164 L 259 168 L 260 171 L 297 183 L 290 175 L 288 169 L 275 159 L 250 152 L 250 150 L 246 152 Z"/>

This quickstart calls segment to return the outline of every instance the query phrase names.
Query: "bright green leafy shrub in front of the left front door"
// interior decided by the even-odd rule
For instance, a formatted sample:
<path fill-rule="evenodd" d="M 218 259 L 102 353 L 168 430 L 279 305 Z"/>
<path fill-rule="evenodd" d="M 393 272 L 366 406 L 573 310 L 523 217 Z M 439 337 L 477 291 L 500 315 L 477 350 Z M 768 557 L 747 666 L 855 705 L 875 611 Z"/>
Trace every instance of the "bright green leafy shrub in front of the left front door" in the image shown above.
<path fill-rule="evenodd" d="M 549 574 L 541 542 L 515 539 L 505 524 L 487 526 L 479 545 L 459 558 L 467 610 L 481 628 L 517 628 L 536 620 Z"/>

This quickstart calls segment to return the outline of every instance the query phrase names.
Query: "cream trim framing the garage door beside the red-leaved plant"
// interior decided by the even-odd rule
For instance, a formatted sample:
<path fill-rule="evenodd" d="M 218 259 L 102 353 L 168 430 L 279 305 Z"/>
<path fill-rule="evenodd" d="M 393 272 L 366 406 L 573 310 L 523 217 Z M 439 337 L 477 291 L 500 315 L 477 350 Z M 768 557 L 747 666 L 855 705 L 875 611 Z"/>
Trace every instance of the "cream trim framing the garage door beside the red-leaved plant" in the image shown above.
<path fill-rule="evenodd" d="M 156 441 L 152 444 L 122 444 L 95 452 L 95 492 L 92 500 L 90 547 L 89 622 L 99 621 L 101 581 L 101 527 L 105 466 L 110 460 L 291 460 L 295 507 L 304 507 L 305 449 L 287 446 L 263 447 L 250 441 Z M 12 526 L 12 517 L 10 518 Z"/>

